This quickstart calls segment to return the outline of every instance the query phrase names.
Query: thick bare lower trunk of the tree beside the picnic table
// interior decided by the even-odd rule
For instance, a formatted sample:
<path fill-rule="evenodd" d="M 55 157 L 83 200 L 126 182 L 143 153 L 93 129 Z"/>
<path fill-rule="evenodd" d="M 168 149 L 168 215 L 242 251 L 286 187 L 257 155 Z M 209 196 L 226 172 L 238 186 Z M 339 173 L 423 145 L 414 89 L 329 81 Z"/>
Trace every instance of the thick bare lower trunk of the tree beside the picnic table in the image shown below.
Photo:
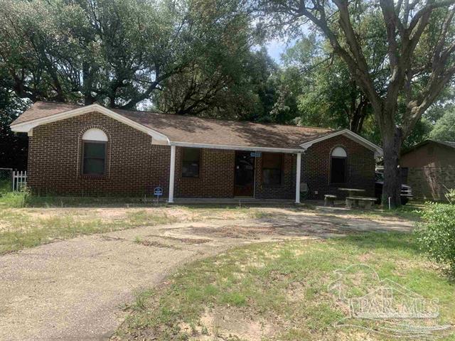
<path fill-rule="evenodd" d="M 401 205 L 401 172 L 399 162 L 402 131 L 395 126 L 387 130 L 382 133 L 382 149 L 384 151 L 382 205 L 388 207 L 390 198 L 390 206 L 395 208 Z"/>

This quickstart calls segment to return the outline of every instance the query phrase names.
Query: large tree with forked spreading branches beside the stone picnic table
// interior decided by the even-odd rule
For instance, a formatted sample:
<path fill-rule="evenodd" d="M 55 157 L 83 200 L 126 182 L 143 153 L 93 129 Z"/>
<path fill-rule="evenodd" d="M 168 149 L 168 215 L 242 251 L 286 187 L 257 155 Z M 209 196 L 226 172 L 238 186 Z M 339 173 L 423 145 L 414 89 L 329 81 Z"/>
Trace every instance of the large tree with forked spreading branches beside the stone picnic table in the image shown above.
<path fill-rule="evenodd" d="M 455 74 L 455 0 L 264 0 L 275 24 L 299 28 L 310 24 L 326 37 L 368 97 L 380 126 L 384 149 L 383 196 L 400 205 L 400 148 L 422 114 Z M 365 57 L 365 25 L 376 21 L 387 55 L 387 82 L 373 77 Z M 402 109 L 400 109 L 402 108 Z"/>

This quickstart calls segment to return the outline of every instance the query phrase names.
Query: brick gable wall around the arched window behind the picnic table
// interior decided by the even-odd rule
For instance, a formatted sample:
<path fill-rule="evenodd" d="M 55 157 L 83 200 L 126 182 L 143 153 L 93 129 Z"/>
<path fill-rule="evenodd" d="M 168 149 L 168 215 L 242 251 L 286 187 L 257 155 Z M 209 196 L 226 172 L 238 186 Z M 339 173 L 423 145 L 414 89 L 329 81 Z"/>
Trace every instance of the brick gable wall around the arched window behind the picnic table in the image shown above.
<path fill-rule="evenodd" d="M 330 159 L 333 148 L 340 146 L 346 150 L 347 182 L 332 185 L 330 183 Z M 336 194 L 345 197 L 346 193 L 338 188 L 365 189 L 362 195 L 375 195 L 375 157 L 373 151 L 355 143 L 345 136 L 335 136 L 332 139 L 314 144 L 302 154 L 301 182 L 308 183 L 311 198 L 323 199 L 324 194 Z M 314 191 L 319 193 L 316 195 Z"/>

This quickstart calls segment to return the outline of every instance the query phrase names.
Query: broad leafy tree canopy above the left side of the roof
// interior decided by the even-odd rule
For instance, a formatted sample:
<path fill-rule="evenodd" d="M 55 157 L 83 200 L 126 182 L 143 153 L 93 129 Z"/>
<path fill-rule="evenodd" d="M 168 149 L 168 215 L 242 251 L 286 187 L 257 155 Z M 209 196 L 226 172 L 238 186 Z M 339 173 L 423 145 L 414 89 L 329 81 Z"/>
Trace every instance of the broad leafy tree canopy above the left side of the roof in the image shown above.
<path fill-rule="evenodd" d="M 242 0 L 0 0 L 0 87 L 32 102 L 134 109 L 210 52 L 241 58 L 249 34 L 242 6 Z"/>

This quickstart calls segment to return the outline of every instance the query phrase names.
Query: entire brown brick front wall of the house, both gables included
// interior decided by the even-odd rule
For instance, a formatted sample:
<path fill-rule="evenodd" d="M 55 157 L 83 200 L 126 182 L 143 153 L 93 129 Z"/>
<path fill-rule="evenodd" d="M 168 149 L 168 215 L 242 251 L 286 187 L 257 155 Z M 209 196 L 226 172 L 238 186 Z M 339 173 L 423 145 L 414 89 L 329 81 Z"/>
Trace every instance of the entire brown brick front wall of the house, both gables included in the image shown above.
<path fill-rule="evenodd" d="M 80 175 L 82 134 L 90 128 L 105 131 L 107 174 Z M 348 183 L 374 194 L 375 161 L 373 152 L 344 136 L 311 146 L 302 155 L 301 181 L 309 183 L 313 198 L 338 193 L 340 185 L 329 184 L 331 150 L 343 146 L 348 153 Z M 168 196 L 170 146 L 151 144 L 151 136 L 103 114 L 90 113 L 33 129 L 28 150 L 28 185 L 41 195 L 151 195 L 161 185 Z M 200 176 L 181 176 L 181 148 L 176 148 L 174 197 L 232 197 L 234 192 L 235 151 L 203 148 Z M 294 199 L 296 156 L 284 154 L 283 183 L 262 184 L 262 158 L 256 159 L 255 194 L 257 198 Z M 343 187 L 344 187 L 343 186 Z"/>

